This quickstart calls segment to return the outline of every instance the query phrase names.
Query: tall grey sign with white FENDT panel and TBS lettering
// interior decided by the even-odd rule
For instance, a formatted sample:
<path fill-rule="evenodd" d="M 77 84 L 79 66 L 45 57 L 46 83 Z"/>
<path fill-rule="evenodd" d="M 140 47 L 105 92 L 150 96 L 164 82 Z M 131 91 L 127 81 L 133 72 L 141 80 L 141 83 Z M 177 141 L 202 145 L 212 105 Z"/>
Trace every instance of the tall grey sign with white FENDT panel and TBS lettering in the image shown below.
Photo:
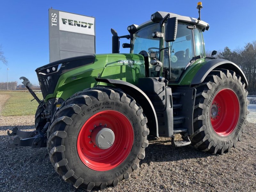
<path fill-rule="evenodd" d="M 95 53 L 95 18 L 49 9 L 50 62 Z"/>

